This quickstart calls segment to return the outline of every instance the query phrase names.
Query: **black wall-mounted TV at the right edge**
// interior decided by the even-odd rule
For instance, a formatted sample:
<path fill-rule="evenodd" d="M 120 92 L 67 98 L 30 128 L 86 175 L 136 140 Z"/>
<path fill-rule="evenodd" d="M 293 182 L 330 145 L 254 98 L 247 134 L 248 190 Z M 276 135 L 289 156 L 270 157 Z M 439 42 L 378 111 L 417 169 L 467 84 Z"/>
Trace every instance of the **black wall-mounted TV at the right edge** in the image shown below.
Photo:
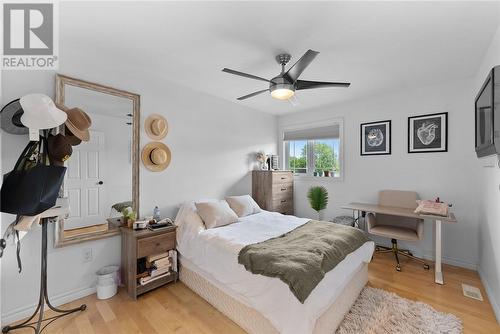
<path fill-rule="evenodd" d="M 500 154 L 500 65 L 491 69 L 476 97 L 476 154 Z"/>

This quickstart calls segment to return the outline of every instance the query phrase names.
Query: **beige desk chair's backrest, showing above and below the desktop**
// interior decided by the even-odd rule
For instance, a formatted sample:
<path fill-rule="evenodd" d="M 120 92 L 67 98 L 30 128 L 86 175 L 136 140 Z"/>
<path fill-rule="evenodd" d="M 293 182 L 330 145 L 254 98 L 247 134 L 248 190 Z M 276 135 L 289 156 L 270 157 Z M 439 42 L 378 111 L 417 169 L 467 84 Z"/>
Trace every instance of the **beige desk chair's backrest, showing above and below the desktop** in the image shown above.
<path fill-rule="evenodd" d="M 414 191 L 381 190 L 378 193 L 378 204 L 397 208 L 416 209 L 419 196 Z M 421 220 L 390 215 L 377 215 L 377 225 L 404 226 L 417 230 Z"/>

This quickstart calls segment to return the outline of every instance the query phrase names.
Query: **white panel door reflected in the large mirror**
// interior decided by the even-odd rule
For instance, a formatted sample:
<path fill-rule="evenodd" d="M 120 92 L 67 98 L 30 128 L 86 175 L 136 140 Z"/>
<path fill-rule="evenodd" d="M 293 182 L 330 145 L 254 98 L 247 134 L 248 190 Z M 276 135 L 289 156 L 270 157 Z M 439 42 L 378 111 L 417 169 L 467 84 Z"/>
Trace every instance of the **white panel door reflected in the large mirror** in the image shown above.
<path fill-rule="evenodd" d="M 104 133 L 99 131 L 91 131 L 88 142 L 73 146 L 64 181 L 71 209 L 64 222 L 66 230 L 106 222 L 104 149 Z"/>

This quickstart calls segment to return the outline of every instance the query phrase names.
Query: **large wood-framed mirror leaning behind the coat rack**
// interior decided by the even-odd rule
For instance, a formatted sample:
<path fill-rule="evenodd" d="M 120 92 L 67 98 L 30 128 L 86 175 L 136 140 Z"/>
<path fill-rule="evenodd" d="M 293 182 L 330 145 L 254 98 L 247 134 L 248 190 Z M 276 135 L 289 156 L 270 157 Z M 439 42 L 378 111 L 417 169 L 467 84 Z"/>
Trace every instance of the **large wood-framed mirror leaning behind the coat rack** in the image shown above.
<path fill-rule="evenodd" d="M 123 208 L 139 212 L 139 95 L 58 74 L 56 103 L 92 124 L 65 162 L 71 214 L 56 224 L 55 247 L 117 235 Z"/>

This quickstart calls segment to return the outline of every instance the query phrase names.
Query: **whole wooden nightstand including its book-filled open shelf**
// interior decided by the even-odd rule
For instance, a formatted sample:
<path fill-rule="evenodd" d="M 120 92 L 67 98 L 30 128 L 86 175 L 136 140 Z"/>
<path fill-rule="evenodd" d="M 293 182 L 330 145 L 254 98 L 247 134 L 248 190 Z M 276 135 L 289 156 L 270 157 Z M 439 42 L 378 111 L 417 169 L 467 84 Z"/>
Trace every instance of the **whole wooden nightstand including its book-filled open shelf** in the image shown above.
<path fill-rule="evenodd" d="M 131 298 L 177 280 L 176 226 L 121 233 L 122 282 Z"/>

